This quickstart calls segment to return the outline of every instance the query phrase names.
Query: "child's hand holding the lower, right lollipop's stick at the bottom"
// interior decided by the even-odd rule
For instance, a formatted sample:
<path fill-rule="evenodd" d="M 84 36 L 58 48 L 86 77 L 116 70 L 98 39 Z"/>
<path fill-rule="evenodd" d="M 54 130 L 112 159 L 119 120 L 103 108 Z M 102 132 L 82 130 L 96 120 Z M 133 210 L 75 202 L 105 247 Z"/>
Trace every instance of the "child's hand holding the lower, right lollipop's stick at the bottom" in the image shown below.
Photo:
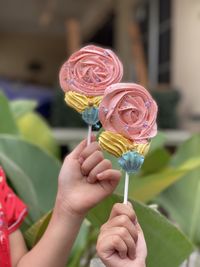
<path fill-rule="evenodd" d="M 101 227 L 97 253 L 106 267 L 145 267 L 147 248 L 131 204 L 115 204 Z"/>

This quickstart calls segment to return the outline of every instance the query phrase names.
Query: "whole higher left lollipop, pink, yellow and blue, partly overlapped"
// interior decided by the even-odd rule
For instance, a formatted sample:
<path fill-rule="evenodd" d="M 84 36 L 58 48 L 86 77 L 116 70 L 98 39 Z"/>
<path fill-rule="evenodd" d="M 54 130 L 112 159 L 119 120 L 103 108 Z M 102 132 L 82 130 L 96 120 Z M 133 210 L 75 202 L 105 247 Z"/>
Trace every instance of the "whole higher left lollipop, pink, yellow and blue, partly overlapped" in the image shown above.
<path fill-rule="evenodd" d="M 94 45 L 73 53 L 60 70 L 60 85 L 66 103 L 82 114 L 88 124 L 88 144 L 92 125 L 98 121 L 98 107 L 107 86 L 120 82 L 123 67 L 109 49 Z"/>

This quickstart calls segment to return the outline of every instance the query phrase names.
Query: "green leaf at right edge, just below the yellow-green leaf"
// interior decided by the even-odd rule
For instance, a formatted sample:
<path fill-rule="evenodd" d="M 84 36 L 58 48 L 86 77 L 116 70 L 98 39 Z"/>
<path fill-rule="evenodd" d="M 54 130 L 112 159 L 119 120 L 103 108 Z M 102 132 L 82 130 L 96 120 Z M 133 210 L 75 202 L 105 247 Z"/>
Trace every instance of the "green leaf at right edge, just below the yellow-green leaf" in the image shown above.
<path fill-rule="evenodd" d="M 200 247 L 200 169 L 185 176 L 157 199 L 182 231 Z"/>

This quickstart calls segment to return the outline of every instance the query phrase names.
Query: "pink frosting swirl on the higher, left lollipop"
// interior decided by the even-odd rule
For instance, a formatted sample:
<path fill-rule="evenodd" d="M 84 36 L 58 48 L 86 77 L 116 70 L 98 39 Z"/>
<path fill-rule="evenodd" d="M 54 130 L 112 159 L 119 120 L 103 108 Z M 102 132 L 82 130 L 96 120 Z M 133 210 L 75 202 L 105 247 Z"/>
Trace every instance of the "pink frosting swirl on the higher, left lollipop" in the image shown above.
<path fill-rule="evenodd" d="M 107 86 L 121 81 L 122 63 L 109 49 L 88 45 L 75 52 L 60 70 L 63 91 L 101 96 Z"/>

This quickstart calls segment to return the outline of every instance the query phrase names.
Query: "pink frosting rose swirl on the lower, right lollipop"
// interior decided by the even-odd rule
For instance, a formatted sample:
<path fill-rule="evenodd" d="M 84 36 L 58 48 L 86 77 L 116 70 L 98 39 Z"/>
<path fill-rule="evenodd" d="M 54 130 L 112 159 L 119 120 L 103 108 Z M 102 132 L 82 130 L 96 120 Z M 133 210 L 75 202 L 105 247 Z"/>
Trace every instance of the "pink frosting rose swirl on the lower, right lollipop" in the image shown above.
<path fill-rule="evenodd" d="M 99 118 L 107 131 L 145 143 L 157 133 L 157 104 L 142 86 L 118 83 L 105 90 Z"/>

